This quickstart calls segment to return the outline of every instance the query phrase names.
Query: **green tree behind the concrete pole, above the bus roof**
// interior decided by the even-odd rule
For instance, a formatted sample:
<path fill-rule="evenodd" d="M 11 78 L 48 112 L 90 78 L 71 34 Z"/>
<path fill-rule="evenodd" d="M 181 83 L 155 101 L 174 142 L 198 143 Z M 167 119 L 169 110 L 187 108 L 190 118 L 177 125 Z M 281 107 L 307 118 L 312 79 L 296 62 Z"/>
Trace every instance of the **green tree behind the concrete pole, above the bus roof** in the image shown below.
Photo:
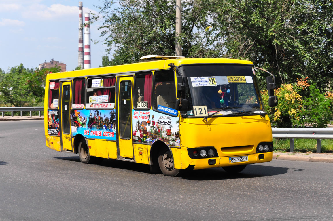
<path fill-rule="evenodd" d="M 108 46 L 106 52 L 114 50 L 110 65 L 134 63 L 145 55 L 174 55 L 175 53 L 175 1 L 105 1 L 98 7 L 104 14 L 105 22 L 99 28 L 101 37 Z M 205 28 L 207 15 L 201 1 L 182 3 L 182 53 L 187 56 L 202 56 L 202 41 L 194 35 L 194 30 Z M 116 8 L 114 8 L 116 7 Z M 114 9 L 113 9 L 114 8 Z M 99 19 L 94 17 L 94 19 Z M 192 47 L 196 46 L 194 50 Z M 200 54 L 201 53 L 201 54 Z"/>

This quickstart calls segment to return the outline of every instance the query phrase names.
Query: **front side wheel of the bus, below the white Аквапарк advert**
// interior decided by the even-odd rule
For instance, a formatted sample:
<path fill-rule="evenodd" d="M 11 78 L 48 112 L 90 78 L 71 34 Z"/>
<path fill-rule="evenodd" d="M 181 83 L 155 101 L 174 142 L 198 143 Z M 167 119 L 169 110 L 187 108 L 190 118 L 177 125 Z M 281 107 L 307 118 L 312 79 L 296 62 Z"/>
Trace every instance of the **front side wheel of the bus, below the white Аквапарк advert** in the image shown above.
<path fill-rule="evenodd" d="M 166 176 L 176 176 L 179 169 L 174 168 L 173 157 L 168 148 L 161 148 L 159 152 L 159 166 L 162 173 Z"/>

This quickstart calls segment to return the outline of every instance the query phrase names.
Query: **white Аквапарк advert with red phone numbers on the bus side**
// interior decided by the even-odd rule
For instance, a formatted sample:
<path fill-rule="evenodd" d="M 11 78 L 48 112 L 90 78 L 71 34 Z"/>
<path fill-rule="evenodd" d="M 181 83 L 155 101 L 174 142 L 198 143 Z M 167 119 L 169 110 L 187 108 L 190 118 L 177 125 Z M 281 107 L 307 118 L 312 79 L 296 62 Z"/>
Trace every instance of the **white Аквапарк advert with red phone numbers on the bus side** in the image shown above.
<path fill-rule="evenodd" d="M 153 110 L 132 110 L 132 128 L 134 142 L 162 140 L 170 146 L 180 146 L 179 117 Z"/>

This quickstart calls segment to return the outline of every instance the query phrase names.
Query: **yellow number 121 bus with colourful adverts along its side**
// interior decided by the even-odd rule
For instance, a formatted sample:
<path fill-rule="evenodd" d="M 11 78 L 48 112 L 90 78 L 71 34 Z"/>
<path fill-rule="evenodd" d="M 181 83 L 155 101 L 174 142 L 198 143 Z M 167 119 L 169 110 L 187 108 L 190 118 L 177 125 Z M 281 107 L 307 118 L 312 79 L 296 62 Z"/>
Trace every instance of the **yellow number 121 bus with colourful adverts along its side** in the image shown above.
<path fill-rule="evenodd" d="M 142 62 L 50 73 L 46 146 L 150 165 L 240 172 L 272 160 L 272 130 L 253 63 L 221 58 L 144 56 Z M 276 106 L 267 77 L 269 105 Z"/>

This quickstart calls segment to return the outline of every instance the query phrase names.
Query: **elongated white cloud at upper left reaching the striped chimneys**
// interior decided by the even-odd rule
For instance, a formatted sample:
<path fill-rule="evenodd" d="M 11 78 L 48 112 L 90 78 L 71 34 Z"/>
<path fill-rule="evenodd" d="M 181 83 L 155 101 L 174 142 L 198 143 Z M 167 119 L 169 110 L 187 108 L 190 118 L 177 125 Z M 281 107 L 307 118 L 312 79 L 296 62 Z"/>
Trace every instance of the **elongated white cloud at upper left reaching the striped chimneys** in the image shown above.
<path fill-rule="evenodd" d="M 90 10 L 89 8 L 83 8 L 83 11 L 97 13 L 95 10 Z M 50 7 L 41 4 L 33 4 L 28 6 L 27 9 L 22 12 L 22 16 L 28 19 L 61 19 L 68 16 L 78 17 L 78 14 L 78 6 L 67 6 L 62 4 L 53 4 Z"/>

